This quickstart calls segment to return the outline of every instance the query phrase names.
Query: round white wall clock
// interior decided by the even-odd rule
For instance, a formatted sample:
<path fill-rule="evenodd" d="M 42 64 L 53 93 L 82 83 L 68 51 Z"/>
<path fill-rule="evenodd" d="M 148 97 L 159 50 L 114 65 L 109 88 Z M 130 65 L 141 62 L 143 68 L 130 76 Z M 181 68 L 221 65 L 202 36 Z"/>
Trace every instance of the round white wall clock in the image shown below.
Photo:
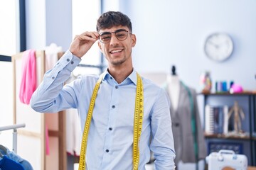
<path fill-rule="evenodd" d="M 205 48 L 207 57 L 222 62 L 233 52 L 233 41 L 226 33 L 214 33 L 206 38 Z"/>

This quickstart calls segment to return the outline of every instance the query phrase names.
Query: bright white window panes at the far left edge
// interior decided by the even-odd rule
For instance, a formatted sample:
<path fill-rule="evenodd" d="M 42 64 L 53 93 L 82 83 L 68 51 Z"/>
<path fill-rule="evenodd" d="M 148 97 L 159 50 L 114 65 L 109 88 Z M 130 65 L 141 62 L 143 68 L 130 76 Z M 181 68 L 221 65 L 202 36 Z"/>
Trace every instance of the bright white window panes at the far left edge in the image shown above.
<path fill-rule="evenodd" d="M 0 1 L 0 55 L 13 55 L 19 48 L 16 1 Z M 6 17 L 7 16 L 7 17 Z M 13 67 L 11 62 L 0 62 L 0 127 L 13 125 Z M 13 148 L 13 130 L 0 132 L 0 145 Z"/>

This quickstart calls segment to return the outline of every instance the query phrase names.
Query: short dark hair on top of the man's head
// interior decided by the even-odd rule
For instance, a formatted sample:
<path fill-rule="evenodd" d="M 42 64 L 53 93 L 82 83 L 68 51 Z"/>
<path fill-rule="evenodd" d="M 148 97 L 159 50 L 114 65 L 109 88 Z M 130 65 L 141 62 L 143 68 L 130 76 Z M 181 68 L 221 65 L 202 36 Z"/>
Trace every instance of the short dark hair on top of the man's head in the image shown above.
<path fill-rule="evenodd" d="M 111 28 L 112 26 L 127 26 L 129 31 L 132 32 L 132 23 L 130 18 L 124 13 L 118 11 L 108 11 L 102 13 L 97 20 L 96 30 L 99 32 L 101 29 Z"/>

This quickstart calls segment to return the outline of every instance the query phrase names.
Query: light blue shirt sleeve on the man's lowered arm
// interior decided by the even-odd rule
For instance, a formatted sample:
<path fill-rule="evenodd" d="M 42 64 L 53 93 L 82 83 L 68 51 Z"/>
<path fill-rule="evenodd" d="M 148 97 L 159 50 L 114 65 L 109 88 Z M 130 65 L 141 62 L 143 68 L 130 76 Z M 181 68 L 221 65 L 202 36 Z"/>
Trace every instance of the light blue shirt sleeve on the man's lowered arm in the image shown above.
<path fill-rule="evenodd" d="M 175 169 L 174 137 L 171 129 L 170 101 L 161 89 L 151 115 L 151 151 L 154 152 L 157 170 Z"/>

